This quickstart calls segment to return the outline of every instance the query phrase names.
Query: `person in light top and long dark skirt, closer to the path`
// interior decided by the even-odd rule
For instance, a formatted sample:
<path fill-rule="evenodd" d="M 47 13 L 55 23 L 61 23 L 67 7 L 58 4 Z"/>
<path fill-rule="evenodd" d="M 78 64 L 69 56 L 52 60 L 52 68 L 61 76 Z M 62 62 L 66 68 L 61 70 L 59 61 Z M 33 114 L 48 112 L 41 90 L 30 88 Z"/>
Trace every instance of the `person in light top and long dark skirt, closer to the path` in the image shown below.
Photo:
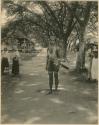
<path fill-rule="evenodd" d="M 18 50 L 15 51 L 13 59 L 12 59 L 12 74 L 18 75 L 19 74 L 19 52 Z"/>

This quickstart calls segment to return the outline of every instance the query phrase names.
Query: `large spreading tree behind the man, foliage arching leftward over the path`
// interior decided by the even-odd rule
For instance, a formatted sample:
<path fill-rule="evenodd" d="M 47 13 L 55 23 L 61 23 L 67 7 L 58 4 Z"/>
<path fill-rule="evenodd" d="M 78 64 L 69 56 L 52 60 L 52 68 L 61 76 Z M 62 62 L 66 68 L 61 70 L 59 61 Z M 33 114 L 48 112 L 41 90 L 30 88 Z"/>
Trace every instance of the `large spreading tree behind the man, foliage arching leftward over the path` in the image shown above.
<path fill-rule="evenodd" d="M 50 38 L 50 35 L 54 35 L 59 41 L 62 41 L 65 58 L 67 39 L 76 24 L 73 14 L 67 10 L 66 2 L 31 2 L 31 4 L 35 3 L 41 7 L 43 15 L 35 14 L 32 10 L 27 9 L 29 5 L 27 3 L 23 5 L 23 3 L 18 4 L 14 3 L 14 1 L 6 1 L 4 5 L 10 15 L 17 14 L 17 21 L 14 22 L 14 25 L 19 26 L 21 31 L 27 32 L 27 29 L 29 29 L 32 32 L 34 28 L 32 29 L 31 26 L 35 25 L 48 38 Z M 71 4 L 71 9 L 74 13 L 76 12 L 75 2 Z"/>

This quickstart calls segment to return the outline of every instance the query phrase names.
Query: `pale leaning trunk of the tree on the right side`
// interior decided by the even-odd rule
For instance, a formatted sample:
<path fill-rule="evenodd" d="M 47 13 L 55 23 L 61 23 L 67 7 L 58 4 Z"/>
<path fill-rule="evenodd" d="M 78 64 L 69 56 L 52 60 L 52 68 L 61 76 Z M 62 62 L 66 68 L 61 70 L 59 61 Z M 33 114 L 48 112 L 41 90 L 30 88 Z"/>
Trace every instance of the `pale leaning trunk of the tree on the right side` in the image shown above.
<path fill-rule="evenodd" d="M 79 52 L 78 52 L 78 56 L 77 56 L 77 62 L 76 62 L 76 69 L 78 71 L 80 71 L 80 69 L 84 69 L 85 68 L 85 40 L 84 40 L 84 35 L 85 35 L 85 30 L 86 30 L 86 26 L 88 24 L 89 21 L 89 17 L 90 17 L 90 10 L 91 10 L 91 2 L 87 2 L 86 5 L 86 10 L 85 10 L 85 15 L 84 15 L 84 21 L 80 21 L 80 45 L 79 45 Z"/>

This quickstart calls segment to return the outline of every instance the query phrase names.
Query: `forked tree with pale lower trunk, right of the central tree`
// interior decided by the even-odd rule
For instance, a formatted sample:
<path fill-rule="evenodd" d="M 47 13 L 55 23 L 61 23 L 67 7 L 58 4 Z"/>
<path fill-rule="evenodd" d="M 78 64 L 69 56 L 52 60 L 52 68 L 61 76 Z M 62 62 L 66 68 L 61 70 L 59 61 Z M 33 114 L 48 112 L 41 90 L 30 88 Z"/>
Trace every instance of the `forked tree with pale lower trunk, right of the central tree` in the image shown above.
<path fill-rule="evenodd" d="M 84 39 L 86 27 L 90 18 L 90 11 L 92 7 L 92 2 L 78 2 L 77 13 L 74 13 L 75 19 L 78 24 L 76 25 L 76 29 L 78 30 L 79 36 L 79 52 L 76 62 L 76 69 L 79 71 L 80 69 L 85 68 L 85 45 L 86 41 Z M 71 11 L 71 8 L 68 6 L 68 9 Z"/>

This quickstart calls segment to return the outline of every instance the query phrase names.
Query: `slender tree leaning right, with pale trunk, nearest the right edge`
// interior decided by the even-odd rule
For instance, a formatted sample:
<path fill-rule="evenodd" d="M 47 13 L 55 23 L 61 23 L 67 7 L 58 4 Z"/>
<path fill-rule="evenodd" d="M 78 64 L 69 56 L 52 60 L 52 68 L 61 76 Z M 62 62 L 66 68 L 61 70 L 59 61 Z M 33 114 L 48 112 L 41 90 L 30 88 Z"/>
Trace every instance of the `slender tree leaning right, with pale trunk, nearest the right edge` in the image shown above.
<path fill-rule="evenodd" d="M 80 19 L 78 19 L 79 26 L 80 26 L 79 27 L 80 44 L 79 44 L 79 53 L 78 53 L 77 63 L 76 63 L 76 68 L 78 71 L 80 69 L 85 68 L 85 47 L 86 47 L 85 36 L 86 36 L 86 31 L 88 31 L 87 30 L 88 23 L 93 13 L 92 6 L 95 4 L 96 4 L 95 2 L 87 2 L 85 5 L 85 12 L 84 12 L 83 20 L 81 21 Z"/>

